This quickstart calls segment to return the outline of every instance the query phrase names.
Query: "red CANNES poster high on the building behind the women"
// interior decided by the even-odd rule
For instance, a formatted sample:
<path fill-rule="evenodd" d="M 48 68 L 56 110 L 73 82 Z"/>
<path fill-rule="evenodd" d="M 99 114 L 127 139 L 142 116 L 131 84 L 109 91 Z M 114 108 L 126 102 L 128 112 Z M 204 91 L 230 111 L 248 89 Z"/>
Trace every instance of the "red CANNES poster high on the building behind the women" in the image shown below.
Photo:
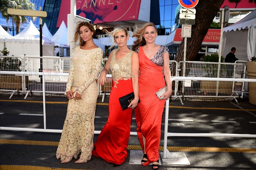
<path fill-rule="evenodd" d="M 76 14 L 92 23 L 108 23 L 137 20 L 140 0 L 76 0 Z M 70 0 L 62 0 L 57 27 L 64 21 L 67 24 L 70 14 Z"/>

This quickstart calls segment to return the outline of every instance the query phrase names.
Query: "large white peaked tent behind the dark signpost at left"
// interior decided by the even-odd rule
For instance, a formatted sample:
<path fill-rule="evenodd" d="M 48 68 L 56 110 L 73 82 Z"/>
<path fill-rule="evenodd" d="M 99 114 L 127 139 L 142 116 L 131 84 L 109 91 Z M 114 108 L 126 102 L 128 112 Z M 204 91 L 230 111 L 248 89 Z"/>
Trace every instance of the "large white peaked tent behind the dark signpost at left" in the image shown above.
<path fill-rule="evenodd" d="M 43 36 L 43 56 L 54 55 L 54 44 Z M 26 28 L 14 37 L 9 38 L 6 48 L 10 55 L 33 55 L 40 56 L 40 32 L 30 20 Z"/>

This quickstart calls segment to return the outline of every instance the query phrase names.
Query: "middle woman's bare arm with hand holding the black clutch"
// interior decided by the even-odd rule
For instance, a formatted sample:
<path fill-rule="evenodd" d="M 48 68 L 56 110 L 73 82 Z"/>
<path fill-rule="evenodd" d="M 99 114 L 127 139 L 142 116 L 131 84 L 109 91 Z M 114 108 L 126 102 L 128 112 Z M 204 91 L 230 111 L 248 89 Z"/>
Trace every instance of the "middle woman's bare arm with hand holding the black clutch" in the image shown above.
<path fill-rule="evenodd" d="M 132 87 L 134 90 L 134 99 L 131 101 L 130 105 L 128 105 L 128 108 L 135 108 L 138 105 L 139 101 L 139 55 L 134 52 L 134 54 L 131 57 L 131 70 L 132 70 Z"/>

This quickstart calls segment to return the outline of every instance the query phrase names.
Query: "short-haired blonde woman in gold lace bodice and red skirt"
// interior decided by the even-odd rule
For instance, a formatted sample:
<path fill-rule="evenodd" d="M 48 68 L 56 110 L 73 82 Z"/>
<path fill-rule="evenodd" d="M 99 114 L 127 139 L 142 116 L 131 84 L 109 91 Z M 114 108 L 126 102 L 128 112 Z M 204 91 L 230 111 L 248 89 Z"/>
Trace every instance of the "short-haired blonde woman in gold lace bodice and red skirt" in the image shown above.
<path fill-rule="evenodd" d="M 132 109 L 137 106 L 139 100 L 139 57 L 126 45 L 128 40 L 126 28 L 116 28 L 111 34 L 119 48 L 111 52 L 99 79 L 101 85 L 108 82 L 106 74 L 111 69 L 113 80 L 109 98 L 109 115 L 106 125 L 94 144 L 92 154 L 113 163 L 115 167 L 121 165 L 127 157 Z M 122 111 L 119 98 L 131 92 L 134 92 L 134 99 L 128 106 L 129 108 Z"/>

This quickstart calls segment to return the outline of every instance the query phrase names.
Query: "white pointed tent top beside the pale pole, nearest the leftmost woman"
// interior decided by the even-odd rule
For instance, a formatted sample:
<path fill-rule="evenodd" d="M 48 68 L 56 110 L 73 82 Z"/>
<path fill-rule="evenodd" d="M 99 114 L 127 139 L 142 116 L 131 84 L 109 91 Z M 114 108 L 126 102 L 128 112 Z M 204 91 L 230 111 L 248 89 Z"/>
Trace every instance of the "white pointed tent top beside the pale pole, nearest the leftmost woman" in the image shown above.
<path fill-rule="evenodd" d="M 69 47 L 67 45 L 67 26 L 64 21 L 62 21 L 61 26 L 52 36 L 52 40 L 54 40 L 55 45 L 58 45 L 59 47 Z"/>

